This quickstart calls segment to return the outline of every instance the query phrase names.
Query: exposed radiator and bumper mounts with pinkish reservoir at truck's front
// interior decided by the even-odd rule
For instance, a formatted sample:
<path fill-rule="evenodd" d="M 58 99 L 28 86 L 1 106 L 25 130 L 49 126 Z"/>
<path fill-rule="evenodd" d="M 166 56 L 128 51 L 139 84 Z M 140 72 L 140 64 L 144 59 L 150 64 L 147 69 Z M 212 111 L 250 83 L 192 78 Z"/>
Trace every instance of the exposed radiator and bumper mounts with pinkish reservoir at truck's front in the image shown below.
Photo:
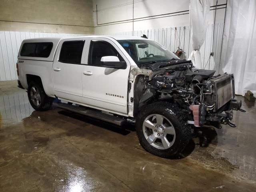
<path fill-rule="evenodd" d="M 240 110 L 242 102 L 234 99 L 233 74 L 209 78 L 202 82 L 201 89 L 200 102 L 190 105 L 194 126 L 212 125 L 216 128 L 221 128 L 220 124 L 235 126 L 230 122 L 233 118 L 232 110 Z M 189 122 L 193 124 L 193 121 Z"/>

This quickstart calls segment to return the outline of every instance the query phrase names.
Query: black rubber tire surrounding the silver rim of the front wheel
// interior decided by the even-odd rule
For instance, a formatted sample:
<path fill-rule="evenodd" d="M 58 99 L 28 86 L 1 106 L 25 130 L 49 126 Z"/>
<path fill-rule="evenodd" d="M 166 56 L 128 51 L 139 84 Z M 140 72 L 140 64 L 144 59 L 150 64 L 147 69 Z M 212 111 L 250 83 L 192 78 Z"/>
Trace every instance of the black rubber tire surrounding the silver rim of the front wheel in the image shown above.
<path fill-rule="evenodd" d="M 136 119 L 136 132 L 141 146 L 146 151 L 162 158 L 176 158 L 188 145 L 191 140 L 191 128 L 184 122 L 182 114 L 178 109 L 177 106 L 168 102 L 155 102 L 140 110 L 138 118 Z M 172 142 L 170 148 L 158 149 L 152 146 L 144 136 L 144 120 L 152 114 L 160 114 L 171 122 L 175 130 L 175 140 Z M 154 132 L 150 134 L 154 134 Z"/>

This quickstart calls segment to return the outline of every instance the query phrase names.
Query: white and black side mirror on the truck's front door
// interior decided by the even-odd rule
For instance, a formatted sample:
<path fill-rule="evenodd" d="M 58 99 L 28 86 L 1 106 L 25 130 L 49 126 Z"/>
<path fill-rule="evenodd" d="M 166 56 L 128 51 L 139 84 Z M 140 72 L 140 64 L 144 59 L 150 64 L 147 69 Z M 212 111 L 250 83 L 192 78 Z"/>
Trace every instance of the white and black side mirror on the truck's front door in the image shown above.
<path fill-rule="evenodd" d="M 126 62 L 120 61 L 117 56 L 104 56 L 100 59 L 102 67 L 126 69 Z"/>

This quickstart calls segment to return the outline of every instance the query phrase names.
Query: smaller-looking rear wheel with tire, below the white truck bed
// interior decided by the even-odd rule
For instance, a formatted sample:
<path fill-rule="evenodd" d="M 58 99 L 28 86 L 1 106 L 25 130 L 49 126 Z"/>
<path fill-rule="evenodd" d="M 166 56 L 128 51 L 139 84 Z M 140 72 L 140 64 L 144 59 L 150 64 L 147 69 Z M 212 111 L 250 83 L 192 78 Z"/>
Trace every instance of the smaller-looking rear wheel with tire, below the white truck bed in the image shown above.
<path fill-rule="evenodd" d="M 52 99 L 46 95 L 41 83 L 30 82 L 28 85 L 28 100 L 37 111 L 45 111 L 52 108 Z"/>

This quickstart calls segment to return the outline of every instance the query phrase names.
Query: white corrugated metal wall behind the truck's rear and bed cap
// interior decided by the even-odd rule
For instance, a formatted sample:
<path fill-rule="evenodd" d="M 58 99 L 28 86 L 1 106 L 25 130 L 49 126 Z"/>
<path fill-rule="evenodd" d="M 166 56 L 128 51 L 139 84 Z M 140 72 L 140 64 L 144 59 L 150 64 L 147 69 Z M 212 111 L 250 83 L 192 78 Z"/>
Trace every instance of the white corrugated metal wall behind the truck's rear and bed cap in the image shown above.
<path fill-rule="evenodd" d="M 0 81 L 16 80 L 16 62 L 24 39 L 39 37 L 84 36 L 85 34 L 0 31 Z"/>

